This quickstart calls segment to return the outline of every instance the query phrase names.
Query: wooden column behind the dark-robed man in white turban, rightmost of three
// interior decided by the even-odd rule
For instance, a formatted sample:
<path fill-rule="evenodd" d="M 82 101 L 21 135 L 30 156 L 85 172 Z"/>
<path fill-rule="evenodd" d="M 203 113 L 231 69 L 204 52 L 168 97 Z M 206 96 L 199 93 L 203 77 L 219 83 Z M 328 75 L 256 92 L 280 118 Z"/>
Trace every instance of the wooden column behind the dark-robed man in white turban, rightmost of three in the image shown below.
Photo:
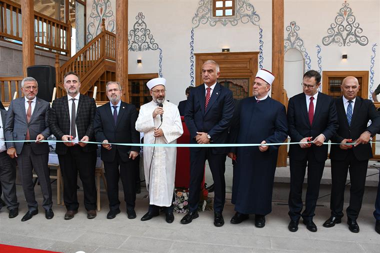
<path fill-rule="evenodd" d="M 272 73 L 275 78 L 271 97 L 286 104 L 283 90 L 283 32 L 283 0 L 272 0 Z M 281 145 L 278 150 L 277 167 L 285 167 L 286 158 L 286 145 Z"/>

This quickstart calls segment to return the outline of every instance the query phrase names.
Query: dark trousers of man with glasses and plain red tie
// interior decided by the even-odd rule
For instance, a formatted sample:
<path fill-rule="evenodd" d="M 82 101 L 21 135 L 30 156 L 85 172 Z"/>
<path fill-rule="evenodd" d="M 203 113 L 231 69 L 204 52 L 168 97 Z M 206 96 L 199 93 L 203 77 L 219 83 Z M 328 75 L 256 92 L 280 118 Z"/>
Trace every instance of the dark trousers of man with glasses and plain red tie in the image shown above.
<path fill-rule="evenodd" d="M 289 216 L 292 220 L 299 219 L 300 216 L 304 220 L 312 220 L 315 215 L 316 201 L 319 195 L 319 184 L 322 178 L 324 161 L 315 160 L 311 150 L 308 151 L 306 159 L 295 160 L 289 157 L 290 163 L 290 192 L 289 192 Z M 305 177 L 307 166 L 307 189 L 305 199 L 305 209 L 301 214 L 302 204 L 302 185 Z"/>

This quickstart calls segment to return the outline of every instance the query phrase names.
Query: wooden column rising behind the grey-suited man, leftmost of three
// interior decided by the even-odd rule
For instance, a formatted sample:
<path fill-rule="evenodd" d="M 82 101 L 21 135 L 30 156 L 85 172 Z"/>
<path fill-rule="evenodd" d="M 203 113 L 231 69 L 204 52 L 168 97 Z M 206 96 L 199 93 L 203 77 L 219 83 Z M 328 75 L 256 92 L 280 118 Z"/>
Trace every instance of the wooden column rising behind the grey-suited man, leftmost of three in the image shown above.
<path fill-rule="evenodd" d="M 26 68 L 34 65 L 34 3 L 33 0 L 21 1 L 22 11 L 22 71 L 27 76 Z"/>

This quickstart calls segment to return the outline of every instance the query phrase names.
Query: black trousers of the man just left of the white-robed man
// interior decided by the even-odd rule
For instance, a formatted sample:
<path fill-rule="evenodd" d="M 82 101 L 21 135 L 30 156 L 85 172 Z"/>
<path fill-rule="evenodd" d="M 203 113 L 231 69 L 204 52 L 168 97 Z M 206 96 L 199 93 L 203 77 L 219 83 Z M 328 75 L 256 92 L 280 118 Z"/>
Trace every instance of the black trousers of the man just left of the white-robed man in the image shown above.
<path fill-rule="evenodd" d="M 135 159 L 138 159 L 137 156 Z M 129 159 L 129 161 L 122 161 L 118 150 L 116 150 L 115 158 L 113 161 L 103 161 L 105 169 L 105 177 L 107 180 L 107 194 L 109 201 L 109 209 L 119 209 L 120 201 L 118 199 L 118 181 L 121 179 L 122 188 L 124 191 L 124 200 L 126 203 L 126 210 L 131 211 L 134 209 L 134 202 L 136 200 L 136 168 L 138 162 Z M 120 170 L 119 170 L 120 167 Z"/>

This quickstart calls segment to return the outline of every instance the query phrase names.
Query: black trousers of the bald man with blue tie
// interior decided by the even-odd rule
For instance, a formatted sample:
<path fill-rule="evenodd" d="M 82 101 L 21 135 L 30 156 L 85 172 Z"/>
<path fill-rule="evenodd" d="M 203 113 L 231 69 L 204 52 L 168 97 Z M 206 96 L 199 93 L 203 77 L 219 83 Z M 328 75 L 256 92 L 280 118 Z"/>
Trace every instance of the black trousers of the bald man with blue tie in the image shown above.
<path fill-rule="evenodd" d="M 367 174 L 368 160 L 359 161 L 356 159 L 352 150 L 344 160 L 331 159 L 331 215 L 343 217 L 344 189 L 349 171 L 349 205 L 346 209 L 347 217 L 356 220 L 363 200 L 365 177 Z"/>

